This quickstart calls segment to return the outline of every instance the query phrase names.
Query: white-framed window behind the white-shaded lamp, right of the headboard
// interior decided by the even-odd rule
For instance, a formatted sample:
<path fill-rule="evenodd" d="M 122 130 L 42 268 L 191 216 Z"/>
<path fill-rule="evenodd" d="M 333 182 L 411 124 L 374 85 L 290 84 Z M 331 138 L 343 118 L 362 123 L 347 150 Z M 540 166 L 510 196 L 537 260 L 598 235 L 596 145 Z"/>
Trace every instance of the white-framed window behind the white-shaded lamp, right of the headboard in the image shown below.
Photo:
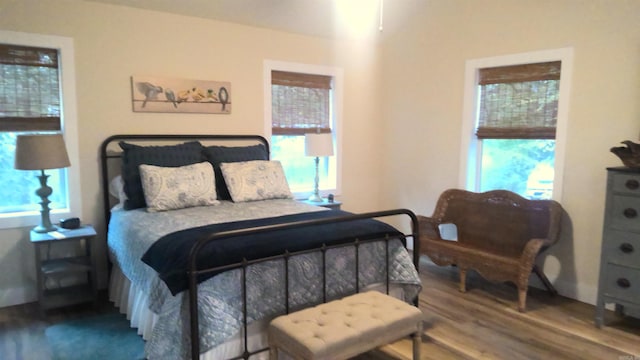
<path fill-rule="evenodd" d="M 283 63 L 267 63 L 270 108 L 271 158 L 282 163 L 291 191 L 297 198 L 313 191 L 315 162 L 305 156 L 305 134 L 330 133 L 337 141 L 335 71 Z M 265 91 L 267 92 L 267 91 Z M 321 157 L 319 188 L 323 195 L 338 192 L 339 152 Z"/>

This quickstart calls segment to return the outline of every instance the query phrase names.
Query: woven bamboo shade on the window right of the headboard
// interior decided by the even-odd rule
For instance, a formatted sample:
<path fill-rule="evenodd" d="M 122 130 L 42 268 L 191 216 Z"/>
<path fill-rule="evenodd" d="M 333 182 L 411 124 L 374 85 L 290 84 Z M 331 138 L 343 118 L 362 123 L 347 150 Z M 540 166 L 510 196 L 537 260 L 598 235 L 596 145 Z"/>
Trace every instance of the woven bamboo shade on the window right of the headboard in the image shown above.
<path fill-rule="evenodd" d="M 272 71 L 272 134 L 330 133 L 330 100 L 330 76 Z"/>

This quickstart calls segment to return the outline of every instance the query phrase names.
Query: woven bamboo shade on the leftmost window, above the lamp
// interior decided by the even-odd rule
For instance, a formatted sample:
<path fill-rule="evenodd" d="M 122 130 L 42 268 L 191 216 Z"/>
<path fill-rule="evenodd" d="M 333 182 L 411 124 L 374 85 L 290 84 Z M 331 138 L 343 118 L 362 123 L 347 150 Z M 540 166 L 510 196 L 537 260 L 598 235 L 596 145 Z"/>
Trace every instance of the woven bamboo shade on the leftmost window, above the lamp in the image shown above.
<path fill-rule="evenodd" d="M 59 131 L 58 51 L 0 44 L 0 131 Z"/>

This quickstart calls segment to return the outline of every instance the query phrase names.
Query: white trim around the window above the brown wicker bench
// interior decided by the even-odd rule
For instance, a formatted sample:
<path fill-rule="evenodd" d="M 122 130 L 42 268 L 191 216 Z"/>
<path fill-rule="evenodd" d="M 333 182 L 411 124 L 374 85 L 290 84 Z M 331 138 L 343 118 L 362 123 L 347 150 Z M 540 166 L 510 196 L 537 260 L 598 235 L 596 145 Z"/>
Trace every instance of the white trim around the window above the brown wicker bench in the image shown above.
<path fill-rule="evenodd" d="M 477 164 L 481 161 L 481 142 L 475 136 L 479 101 L 477 85 L 479 69 L 548 61 L 562 62 L 553 181 L 553 199 L 558 201 L 562 199 L 571 75 L 573 73 L 573 48 L 571 47 L 467 60 L 465 65 L 464 109 L 462 113 L 460 176 L 458 179 L 461 188 L 476 191 L 480 181 L 480 169 Z"/>

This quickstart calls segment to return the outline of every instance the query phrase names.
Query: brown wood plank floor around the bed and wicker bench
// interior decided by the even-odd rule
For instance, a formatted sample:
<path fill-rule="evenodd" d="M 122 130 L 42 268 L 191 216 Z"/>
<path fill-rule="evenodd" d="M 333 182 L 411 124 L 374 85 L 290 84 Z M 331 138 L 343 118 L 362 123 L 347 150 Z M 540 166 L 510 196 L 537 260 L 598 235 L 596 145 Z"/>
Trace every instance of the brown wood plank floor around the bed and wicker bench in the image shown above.
<path fill-rule="evenodd" d="M 457 269 L 423 259 L 420 308 L 425 313 L 423 360 L 594 359 L 640 360 L 640 320 L 606 314 L 606 326 L 593 325 L 592 305 L 552 297 L 531 288 L 527 312 L 517 310 L 517 292 L 468 275 L 468 291 L 458 291 Z M 106 300 L 97 308 L 52 310 L 43 318 L 36 304 L 0 309 L 0 359 L 48 360 L 44 330 L 65 319 L 115 311 Z M 358 360 L 411 359 L 411 341 L 401 340 Z"/>

